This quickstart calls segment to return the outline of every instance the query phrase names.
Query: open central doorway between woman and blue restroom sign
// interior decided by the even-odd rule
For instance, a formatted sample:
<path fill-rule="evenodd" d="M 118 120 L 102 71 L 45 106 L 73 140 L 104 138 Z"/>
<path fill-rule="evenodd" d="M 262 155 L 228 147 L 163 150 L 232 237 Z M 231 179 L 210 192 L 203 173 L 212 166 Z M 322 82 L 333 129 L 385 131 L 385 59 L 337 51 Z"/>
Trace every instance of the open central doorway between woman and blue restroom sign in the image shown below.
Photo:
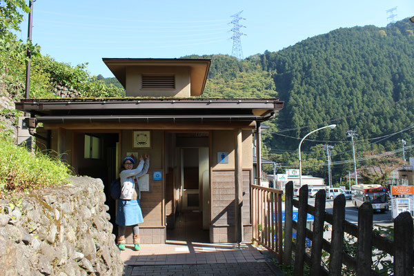
<path fill-rule="evenodd" d="M 166 132 L 168 240 L 209 242 L 209 132 Z"/>

